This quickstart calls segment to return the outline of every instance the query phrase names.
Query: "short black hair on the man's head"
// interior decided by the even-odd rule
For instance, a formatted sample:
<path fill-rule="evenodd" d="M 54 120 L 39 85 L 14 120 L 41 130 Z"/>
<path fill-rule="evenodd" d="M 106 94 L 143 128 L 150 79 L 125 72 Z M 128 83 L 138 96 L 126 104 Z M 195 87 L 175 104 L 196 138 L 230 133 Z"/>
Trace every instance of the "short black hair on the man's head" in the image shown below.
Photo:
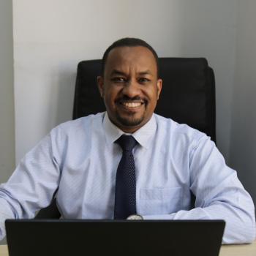
<path fill-rule="evenodd" d="M 110 45 L 110 47 L 105 51 L 103 58 L 102 58 L 102 78 L 104 78 L 105 64 L 108 59 L 108 53 L 110 53 L 110 50 L 113 50 L 113 48 L 121 47 L 121 46 L 129 46 L 129 47 L 143 46 L 143 47 L 148 48 L 148 50 L 151 50 L 151 53 L 153 53 L 154 59 L 156 60 L 156 63 L 157 63 L 157 78 L 158 78 L 159 59 L 158 59 L 156 51 L 151 47 L 151 45 L 148 45 L 147 42 L 143 41 L 142 39 L 133 38 L 133 37 L 125 37 L 122 39 L 118 39 L 116 42 L 113 42 L 113 44 Z"/>

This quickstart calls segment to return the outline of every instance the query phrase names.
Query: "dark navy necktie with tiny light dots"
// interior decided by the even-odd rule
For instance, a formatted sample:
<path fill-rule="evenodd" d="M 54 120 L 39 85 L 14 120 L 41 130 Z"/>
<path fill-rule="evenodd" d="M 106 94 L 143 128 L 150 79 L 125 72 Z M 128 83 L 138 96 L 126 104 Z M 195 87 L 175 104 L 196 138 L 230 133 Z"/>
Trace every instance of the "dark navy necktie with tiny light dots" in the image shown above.
<path fill-rule="evenodd" d="M 116 172 L 114 219 L 127 219 L 136 214 L 136 176 L 132 148 L 137 141 L 131 135 L 121 135 L 116 142 L 123 149 L 123 156 Z"/>

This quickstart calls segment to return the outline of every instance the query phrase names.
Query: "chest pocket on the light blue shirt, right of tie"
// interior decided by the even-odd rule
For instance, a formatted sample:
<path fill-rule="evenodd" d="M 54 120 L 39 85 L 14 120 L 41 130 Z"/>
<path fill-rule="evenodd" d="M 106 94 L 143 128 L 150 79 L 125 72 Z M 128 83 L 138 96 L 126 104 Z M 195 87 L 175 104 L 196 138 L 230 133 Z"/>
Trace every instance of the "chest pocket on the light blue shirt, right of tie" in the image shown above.
<path fill-rule="evenodd" d="M 140 215 L 172 214 L 182 210 L 183 189 L 140 189 Z"/>

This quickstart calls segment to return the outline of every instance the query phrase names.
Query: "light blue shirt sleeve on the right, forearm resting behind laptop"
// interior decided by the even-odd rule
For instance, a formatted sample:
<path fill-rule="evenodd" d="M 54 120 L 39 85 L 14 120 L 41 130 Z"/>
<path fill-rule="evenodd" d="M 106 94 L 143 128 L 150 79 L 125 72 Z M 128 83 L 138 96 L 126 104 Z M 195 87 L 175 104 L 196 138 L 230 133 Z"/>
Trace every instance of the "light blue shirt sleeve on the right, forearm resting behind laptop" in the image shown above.
<path fill-rule="evenodd" d="M 255 208 L 237 173 L 225 165 L 215 144 L 201 137 L 189 156 L 190 189 L 195 208 L 143 219 L 224 219 L 223 244 L 251 243 L 255 239 Z M 171 202 L 170 202 L 171 203 Z"/>

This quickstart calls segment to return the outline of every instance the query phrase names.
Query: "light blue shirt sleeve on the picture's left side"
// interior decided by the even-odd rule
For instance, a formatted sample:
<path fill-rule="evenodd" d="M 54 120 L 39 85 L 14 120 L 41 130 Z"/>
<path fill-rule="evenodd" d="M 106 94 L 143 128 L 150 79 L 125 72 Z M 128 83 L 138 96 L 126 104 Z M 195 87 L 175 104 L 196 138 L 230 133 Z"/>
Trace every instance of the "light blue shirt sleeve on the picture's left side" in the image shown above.
<path fill-rule="evenodd" d="M 54 128 L 20 161 L 9 181 L 0 185 L 0 240 L 5 219 L 31 219 L 47 207 L 61 177 L 61 128 Z"/>

